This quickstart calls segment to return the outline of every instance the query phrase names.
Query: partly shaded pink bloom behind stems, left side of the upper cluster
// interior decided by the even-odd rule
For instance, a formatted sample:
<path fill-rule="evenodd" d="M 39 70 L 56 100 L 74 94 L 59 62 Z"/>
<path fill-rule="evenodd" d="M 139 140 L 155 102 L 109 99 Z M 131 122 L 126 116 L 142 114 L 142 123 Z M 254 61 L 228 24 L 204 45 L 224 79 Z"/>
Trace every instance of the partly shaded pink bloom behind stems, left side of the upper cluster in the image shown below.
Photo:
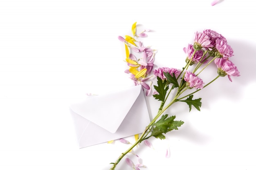
<path fill-rule="evenodd" d="M 192 55 L 193 55 L 193 53 L 194 53 L 194 51 L 195 51 L 195 49 L 193 48 L 193 45 L 189 44 L 189 45 L 188 45 L 188 48 L 186 48 L 186 47 L 183 48 L 183 51 L 184 51 L 184 53 L 186 53 L 186 55 L 187 55 L 187 57 L 186 57 L 186 63 L 189 63 L 189 61 L 190 61 L 190 59 L 191 59 L 191 57 L 192 57 Z M 203 52 L 202 50 L 196 51 L 196 52 L 195 52 L 195 55 L 193 56 L 193 58 L 192 58 L 192 60 L 191 60 L 190 65 L 193 65 L 193 64 L 195 64 L 195 63 L 200 62 L 200 60 L 202 59 L 203 53 L 204 53 L 204 52 Z M 201 62 L 206 63 L 207 60 L 205 60 L 205 58 L 206 58 L 206 57 L 204 57 L 204 58 L 201 60 Z"/>

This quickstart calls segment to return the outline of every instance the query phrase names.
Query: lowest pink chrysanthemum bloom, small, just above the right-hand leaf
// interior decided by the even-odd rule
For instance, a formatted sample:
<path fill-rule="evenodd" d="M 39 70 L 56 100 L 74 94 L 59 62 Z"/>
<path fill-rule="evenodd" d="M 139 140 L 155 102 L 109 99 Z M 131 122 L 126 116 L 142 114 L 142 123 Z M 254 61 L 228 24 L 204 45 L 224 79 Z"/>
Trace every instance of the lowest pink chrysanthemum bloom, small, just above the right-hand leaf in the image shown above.
<path fill-rule="evenodd" d="M 203 88 L 204 82 L 202 81 L 202 79 L 200 79 L 194 73 L 191 73 L 188 70 L 186 70 L 184 80 L 186 81 L 187 88 Z"/>

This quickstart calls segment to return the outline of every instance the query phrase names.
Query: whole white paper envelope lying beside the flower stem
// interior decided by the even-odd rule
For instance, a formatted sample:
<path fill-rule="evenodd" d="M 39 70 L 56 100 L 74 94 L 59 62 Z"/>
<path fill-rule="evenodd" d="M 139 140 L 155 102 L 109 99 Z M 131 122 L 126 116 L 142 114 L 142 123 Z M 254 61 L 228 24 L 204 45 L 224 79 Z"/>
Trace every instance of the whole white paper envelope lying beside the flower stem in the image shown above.
<path fill-rule="evenodd" d="M 70 106 L 79 148 L 142 133 L 150 123 L 141 85 Z"/>

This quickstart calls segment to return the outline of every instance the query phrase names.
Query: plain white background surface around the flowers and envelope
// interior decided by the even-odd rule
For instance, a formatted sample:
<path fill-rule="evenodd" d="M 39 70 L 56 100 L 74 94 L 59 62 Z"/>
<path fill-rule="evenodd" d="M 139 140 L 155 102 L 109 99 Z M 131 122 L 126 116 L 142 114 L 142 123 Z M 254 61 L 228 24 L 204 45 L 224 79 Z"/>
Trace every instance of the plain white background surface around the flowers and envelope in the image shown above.
<path fill-rule="evenodd" d="M 182 68 L 195 31 L 212 29 L 234 49 L 241 75 L 197 93 L 201 112 L 182 104 L 168 110 L 185 123 L 166 140 L 150 139 L 154 149 L 135 149 L 141 169 L 255 170 L 255 15 L 253 0 L 1 0 L 0 169 L 110 168 L 128 145 L 79 149 L 69 106 L 86 93 L 133 86 L 117 36 L 137 22 L 152 30 L 144 45 L 158 50 L 156 68 Z M 147 101 L 153 116 L 159 103 Z M 121 161 L 116 170 L 124 169 L 132 168 Z"/>

